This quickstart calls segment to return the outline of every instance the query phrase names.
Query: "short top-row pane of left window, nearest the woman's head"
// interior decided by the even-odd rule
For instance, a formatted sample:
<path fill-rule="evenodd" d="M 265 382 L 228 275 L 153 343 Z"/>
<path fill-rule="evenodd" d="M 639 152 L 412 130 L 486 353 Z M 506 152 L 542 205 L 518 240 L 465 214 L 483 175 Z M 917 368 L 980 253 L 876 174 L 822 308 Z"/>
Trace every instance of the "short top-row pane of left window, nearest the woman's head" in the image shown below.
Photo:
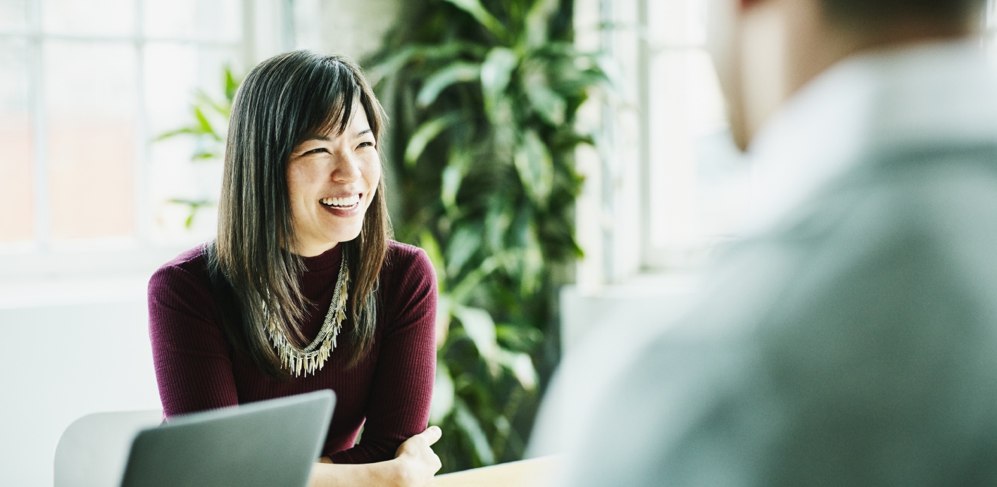
<path fill-rule="evenodd" d="M 144 0 L 146 35 L 237 42 L 240 6 L 238 0 Z"/>

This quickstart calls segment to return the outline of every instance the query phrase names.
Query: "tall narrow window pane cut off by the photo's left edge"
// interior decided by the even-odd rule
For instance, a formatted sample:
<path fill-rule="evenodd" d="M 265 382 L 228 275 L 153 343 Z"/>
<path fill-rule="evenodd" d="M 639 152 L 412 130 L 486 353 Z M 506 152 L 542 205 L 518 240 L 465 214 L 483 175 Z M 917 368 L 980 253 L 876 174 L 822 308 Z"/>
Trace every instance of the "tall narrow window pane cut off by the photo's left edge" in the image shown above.
<path fill-rule="evenodd" d="M 32 237 L 28 49 L 0 42 L 0 242 Z"/>

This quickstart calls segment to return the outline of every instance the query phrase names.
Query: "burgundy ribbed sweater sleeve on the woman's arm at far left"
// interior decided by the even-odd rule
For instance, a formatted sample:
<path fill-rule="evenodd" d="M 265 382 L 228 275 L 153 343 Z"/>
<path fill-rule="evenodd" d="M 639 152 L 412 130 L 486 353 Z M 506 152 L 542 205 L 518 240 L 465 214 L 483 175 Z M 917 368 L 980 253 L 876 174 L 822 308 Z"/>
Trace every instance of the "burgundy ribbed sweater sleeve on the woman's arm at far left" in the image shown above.
<path fill-rule="evenodd" d="M 166 417 L 236 405 L 228 344 L 202 280 L 166 265 L 149 283 L 149 335 Z"/>

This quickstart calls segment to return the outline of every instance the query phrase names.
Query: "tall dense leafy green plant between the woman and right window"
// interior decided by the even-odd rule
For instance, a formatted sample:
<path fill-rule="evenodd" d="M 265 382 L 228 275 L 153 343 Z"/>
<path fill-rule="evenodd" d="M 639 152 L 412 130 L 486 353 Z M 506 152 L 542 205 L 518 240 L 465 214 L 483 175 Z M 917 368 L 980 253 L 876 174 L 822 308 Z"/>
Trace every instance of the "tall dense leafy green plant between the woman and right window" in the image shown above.
<path fill-rule="evenodd" d="M 558 359 L 556 290 L 581 255 L 572 155 L 592 138 L 575 113 L 609 80 L 573 47 L 571 1 L 408 8 L 365 64 L 393 118 L 399 239 L 428 252 L 440 283 L 449 333 L 431 422 L 446 472 L 521 458 Z"/>

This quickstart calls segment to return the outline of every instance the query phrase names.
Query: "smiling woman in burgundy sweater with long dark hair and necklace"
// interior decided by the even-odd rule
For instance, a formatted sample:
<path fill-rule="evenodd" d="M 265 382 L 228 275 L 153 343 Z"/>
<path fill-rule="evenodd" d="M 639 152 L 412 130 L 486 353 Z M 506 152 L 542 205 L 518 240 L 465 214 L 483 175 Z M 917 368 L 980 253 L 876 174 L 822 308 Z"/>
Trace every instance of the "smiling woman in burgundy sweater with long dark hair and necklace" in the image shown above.
<path fill-rule="evenodd" d="M 316 465 L 314 485 L 423 485 L 440 467 L 439 429 L 423 432 L 436 278 L 422 250 L 389 240 L 383 121 L 346 59 L 261 63 L 232 105 L 217 239 L 150 281 L 167 417 L 336 392 L 333 465 Z"/>

